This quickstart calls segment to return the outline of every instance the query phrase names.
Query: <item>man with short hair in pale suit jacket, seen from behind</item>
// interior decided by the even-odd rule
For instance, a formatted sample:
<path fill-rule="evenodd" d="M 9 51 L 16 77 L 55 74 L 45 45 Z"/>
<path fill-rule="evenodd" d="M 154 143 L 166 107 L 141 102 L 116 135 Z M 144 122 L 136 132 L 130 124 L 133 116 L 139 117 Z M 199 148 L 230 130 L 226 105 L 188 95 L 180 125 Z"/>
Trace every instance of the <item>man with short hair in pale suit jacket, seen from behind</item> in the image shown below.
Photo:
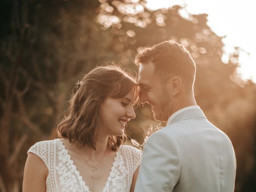
<path fill-rule="evenodd" d="M 167 121 L 146 143 L 135 192 L 233 192 L 232 143 L 196 105 L 189 52 L 170 40 L 146 48 L 135 63 L 140 102 L 151 105 L 156 120 Z"/>

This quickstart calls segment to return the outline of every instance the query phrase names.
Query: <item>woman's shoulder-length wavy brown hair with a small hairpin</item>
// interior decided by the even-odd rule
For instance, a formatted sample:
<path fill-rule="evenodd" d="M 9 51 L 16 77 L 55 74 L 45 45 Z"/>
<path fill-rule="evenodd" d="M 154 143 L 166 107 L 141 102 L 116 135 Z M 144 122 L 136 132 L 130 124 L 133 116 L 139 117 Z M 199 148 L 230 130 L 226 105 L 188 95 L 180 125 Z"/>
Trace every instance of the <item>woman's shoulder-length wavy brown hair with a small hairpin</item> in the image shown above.
<path fill-rule="evenodd" d="M 135 78 L 117 65 L 98 66 L 76 84 L 76 92 L 69 100 L 66 115 L 57 127 L 60 138 L 70 143 L 78 141 L 95 148 L 98 128 L 102 120 L 100 104 L 108 97 L 122 98 L 134 89 L 134 106 L 138 104 L 139 86 Z M 116 151 L 126 136 L 109 136 L 108 144 Z"/>

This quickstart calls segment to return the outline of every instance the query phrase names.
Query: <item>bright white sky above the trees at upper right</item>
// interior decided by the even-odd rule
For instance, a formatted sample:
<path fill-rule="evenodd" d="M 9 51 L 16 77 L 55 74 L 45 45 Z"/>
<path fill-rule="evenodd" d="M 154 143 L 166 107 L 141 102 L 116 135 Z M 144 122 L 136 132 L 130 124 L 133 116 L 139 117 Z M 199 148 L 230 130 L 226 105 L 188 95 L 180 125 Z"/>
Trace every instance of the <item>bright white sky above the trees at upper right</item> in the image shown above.
<path fill-rule="evenodd" d="M 238 73 L 242 79 L 256 82 L 256 11 L 255 0 L 147 0 L 149 9 L 184 7 L 190 14 L 208 14 L 208 26 L 218 36 L 226 36 L 224 52 L 231 53 L 234 46 L 242 48 Z M 248 55 L 250 54 L 250 56 Z M 226 54 L 226 55 L 227 55 Z M 223 60 L 225 60 L 225 54 Z"/>

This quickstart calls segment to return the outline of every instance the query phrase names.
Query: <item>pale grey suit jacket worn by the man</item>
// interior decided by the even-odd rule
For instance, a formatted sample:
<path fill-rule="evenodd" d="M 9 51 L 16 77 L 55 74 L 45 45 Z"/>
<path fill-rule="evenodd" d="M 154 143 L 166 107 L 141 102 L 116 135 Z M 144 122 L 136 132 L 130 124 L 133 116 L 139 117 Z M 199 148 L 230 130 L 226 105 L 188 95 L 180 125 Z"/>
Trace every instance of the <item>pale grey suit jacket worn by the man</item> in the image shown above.
<path fill-rule="evenodd" d="M 233 192 L 235 175 L 228 136 L 188 109 L 146 142 L 135 192 Z"/>

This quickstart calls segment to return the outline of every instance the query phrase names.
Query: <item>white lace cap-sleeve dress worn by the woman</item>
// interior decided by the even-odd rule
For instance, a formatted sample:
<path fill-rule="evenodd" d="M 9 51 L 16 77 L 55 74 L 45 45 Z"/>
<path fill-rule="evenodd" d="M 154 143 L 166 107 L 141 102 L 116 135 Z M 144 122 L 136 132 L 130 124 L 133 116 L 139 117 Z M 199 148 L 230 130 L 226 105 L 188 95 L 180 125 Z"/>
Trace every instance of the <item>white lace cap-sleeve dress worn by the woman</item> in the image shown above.
<path fill-rule="evenodd" d="M 47 192 L 90 192 L 60 139 L 38 142 L 28 153 L 39 156 L 48 168 Z M 141 151 L 137 148 L 120 146 L 102 192 L 129 192 L 140 159 Z"/>

